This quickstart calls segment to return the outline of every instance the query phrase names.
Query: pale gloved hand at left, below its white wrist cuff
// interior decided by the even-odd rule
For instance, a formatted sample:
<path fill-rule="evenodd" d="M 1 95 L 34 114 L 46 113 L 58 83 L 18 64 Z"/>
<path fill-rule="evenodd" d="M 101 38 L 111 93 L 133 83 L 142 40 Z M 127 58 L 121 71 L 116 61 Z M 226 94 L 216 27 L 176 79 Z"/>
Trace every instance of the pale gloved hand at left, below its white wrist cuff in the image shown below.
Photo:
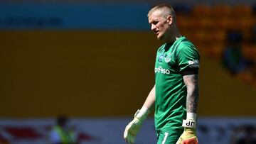
<path fill-rule="evenodd" d="M 134 117 L 134 119 L 125 127 L 124 130 L 124 140 L 127 143 L 134 144 L 137 133 L 142 127 L 142 121 L 139 118 Z"/>

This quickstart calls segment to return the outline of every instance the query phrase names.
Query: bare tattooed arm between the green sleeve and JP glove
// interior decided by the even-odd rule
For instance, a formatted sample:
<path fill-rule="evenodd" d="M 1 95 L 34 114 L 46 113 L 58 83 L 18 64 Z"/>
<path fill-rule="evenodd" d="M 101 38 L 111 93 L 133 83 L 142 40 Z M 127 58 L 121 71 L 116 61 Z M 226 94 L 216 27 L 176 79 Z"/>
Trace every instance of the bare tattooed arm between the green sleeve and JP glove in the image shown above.
<path fill-rule="evenodd" d="M 187 88 L 187 112 L 196 113 L 199 98 L 198 74 L 184 75 L 183 81 L 186 84 Z"/>

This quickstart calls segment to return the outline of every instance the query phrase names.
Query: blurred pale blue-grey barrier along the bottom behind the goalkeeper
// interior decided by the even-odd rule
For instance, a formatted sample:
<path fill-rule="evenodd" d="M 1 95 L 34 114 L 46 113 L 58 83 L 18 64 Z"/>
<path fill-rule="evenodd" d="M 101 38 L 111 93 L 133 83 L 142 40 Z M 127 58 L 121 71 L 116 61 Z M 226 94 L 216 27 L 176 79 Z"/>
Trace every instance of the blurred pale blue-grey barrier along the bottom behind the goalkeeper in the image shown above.
<path fill-rule="evenodd" d="M 124 127 L 129 118 L 71 118 L 79 144 L 125 144 Z M 54 119 L 1 119 L 1 144 L 46 144 Z M 201 144 L 247 144 L 255 141 L 255 118 L 203 118 L 198 119 L 198 140 Z M 147 119 L 137 135 L 138 144 L 156 143 L 154 119 Z M 50 143 L 49 143 L 50 144 Z M 248 143 L 249 144 L 249 143 Z"/>

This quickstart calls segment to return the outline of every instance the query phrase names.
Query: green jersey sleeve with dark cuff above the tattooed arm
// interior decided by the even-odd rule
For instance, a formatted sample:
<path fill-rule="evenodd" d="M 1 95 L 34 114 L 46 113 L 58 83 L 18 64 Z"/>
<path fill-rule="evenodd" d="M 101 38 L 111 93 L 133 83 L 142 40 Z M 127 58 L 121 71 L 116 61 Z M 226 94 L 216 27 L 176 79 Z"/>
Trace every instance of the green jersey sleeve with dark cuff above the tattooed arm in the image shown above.
<path fill-rule="evenodd" d="M 200 56 L 198 50 L 193 45 L 186 45 L 178 52 L 178 67 L 182 73 L 198 73 L 200 67 Z"/>

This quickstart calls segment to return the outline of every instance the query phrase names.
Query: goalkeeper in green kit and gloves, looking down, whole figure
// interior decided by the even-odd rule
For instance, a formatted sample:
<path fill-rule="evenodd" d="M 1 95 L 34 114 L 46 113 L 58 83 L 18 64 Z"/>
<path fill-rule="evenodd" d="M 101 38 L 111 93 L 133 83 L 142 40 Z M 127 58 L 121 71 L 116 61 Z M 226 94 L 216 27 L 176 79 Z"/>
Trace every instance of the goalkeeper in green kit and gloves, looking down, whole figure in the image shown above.
<path fill-rule="evenodd" d="M 135 143 L 143 121 L 154 109 L 157 144 L 197 144 L 198 50 L 179 33 L 171 6 L 155 6 L 148 19 L 151 31 L 164 45 L 156 52 L 154 87 L 126 126 L 124 140 Z"/>

